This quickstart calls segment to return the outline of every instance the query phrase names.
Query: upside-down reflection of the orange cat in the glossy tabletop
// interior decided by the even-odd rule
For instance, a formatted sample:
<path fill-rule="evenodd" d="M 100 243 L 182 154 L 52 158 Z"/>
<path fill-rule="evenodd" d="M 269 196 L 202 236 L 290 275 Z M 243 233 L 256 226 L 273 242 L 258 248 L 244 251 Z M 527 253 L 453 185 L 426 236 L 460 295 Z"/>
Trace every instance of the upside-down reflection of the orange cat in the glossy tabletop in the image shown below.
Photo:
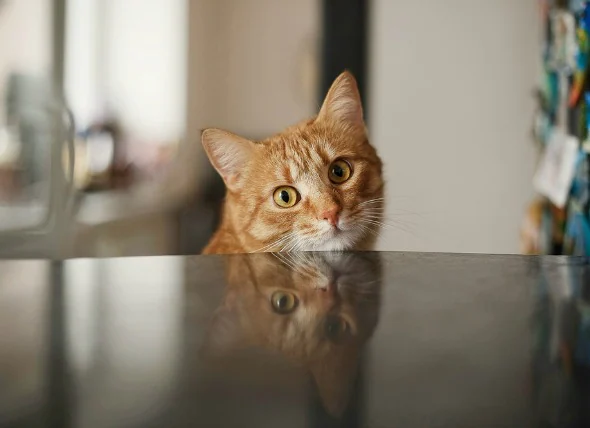
<path fill-rule="evenodd" d="M 281 253 L 227 258 L 228 287 L 207 357 L 248 348 L 278 352 L 314 378 L 326 410 L 346 408 L 363 345 L 377 325 L 376 253 Z"/>

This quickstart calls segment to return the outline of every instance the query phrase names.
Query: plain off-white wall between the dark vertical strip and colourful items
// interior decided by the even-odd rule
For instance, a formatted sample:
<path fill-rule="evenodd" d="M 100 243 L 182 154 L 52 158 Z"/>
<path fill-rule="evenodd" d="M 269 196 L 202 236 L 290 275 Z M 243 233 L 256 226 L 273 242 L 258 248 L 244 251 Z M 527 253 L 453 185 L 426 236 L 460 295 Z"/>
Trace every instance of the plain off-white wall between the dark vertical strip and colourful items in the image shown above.
<path fill-rule="evenodd" d="M 536 156 L 537 1 L 372 5 L 370 131 L 399 225 L 380 249 L 518 252 Z"/>

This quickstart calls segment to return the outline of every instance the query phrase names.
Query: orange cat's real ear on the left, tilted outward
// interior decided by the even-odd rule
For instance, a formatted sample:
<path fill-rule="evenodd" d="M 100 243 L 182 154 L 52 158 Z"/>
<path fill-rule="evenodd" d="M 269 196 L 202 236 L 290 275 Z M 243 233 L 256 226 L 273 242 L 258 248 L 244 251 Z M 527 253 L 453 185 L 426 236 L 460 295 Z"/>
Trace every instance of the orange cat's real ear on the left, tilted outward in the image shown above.
<path fill-rule="evenodd" d="M 209 160 L 229 189 L 241 184 L 241 172 L 248 163 L 254 144 L 231 132 L 209 128 L 203 131 L 201 141 Z"/>

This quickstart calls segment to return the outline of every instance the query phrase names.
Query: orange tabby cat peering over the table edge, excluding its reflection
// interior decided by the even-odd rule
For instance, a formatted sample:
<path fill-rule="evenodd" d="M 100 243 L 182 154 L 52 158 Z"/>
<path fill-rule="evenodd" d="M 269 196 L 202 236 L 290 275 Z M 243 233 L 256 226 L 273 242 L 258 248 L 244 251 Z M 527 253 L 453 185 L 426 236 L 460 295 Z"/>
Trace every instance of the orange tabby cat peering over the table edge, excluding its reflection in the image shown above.
<path fill-rule="evenodd" d="M 342 73 L 318 116 L 260 142 L 219 129 L 202 142 L 227 193 L 204 250 L 370 250 L 383 214 L 381 160 L 354 77 Z"/>

